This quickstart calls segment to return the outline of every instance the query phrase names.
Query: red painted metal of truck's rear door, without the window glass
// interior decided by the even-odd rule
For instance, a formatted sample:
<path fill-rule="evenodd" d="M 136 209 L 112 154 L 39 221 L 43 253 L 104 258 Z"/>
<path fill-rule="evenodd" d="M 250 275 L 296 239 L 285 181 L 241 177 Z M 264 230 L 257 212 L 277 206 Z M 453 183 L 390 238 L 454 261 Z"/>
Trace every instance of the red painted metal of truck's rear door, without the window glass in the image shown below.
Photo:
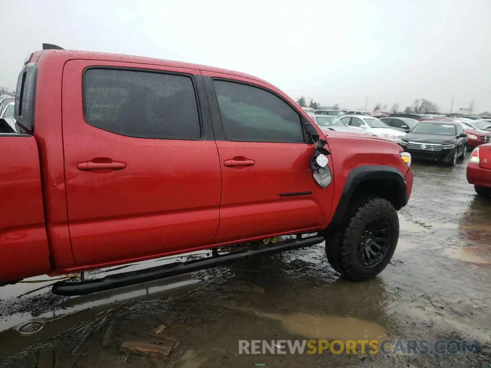
<path fill-rule="evenodd" d="M 221 191 L 215 141 L 135 138 L 88 125 L 82 71 L 90 65 L 94 61 L 72 60 L 63 71 L 68 221 L 76 262 L 117 262 L 212 243 Z"/>

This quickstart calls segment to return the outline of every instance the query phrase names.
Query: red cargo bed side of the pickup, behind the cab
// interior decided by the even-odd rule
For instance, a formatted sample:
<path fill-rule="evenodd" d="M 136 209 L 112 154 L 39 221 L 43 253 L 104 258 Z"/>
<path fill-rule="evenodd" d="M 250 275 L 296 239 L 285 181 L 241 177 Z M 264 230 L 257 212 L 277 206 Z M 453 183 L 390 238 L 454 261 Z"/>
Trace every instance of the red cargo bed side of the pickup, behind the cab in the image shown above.
<path fill-rule="evenodd" d="M 0 282 L 51 271 L 36 140 L 0 134 Z"/>

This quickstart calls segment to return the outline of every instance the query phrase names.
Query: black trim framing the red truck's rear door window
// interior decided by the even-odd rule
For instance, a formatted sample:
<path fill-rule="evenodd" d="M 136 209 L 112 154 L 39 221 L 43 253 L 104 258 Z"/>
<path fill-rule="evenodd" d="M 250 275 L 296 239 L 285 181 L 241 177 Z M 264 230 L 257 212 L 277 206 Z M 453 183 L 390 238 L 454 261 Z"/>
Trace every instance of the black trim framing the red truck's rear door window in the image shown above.
<path fill-rule="evenodd" d="M 181 76 L 181 77 L 187 77 L 191 79 L 191 84 L 192 84 L 192 89 L 194 91 L 194 98 L 196 100 L 196 107 L 198 109 L 198 124 L 199 124 L 199 131 L 200 131 L 200 136 L 198 138 L 186 138 L 186 137 L 173 137 L 173 136 L 154 136 L 154 135 L 128 135 L 128 134 L 121 134 L 121 133 L 115 133 L 114 131 L 108 131 L 106 129 L 100 128 L 93 126 L 92 124 L 89 124 L 86 119 L 86 114 L 85 114 L 85 73 L 89 70 L 92 69 L 102 69 L 102 70 L 122 70 L 122 71 L 127 71 L 127 72 L 144 72 L 144 73 L 156 73 L 156 74 L 165 74 L 165 75 L 172 75 L 172 76 Z M 132 68 L 132 67 L 119 67 L 119 66 L 107 66 L 107 65 L 89 65 L 83 68 L 82 71 L 82 111 L 83 111 L 83 121 L 85 124 L 94 127 L 96 129 L 100 129 L 102 131 L 108 131 L 109 133 L 112 134 L 117 134 L 123 137 L 130 137 L 130 138 L 144 138 L 144 139 L 172 139 L 172 140 L 205 140 L 205 133 L 204 133 L 204 127 L 203 127 L 203 114 L 201 111 L 201 104 L 198 96 L 198 90 L 197 90 L 197 82 L 194 78 L 193 74 L 189 73 L 181 73 L 181 72 L 172 72 L 172 71 L 166 71 L 166 70 L 160 70 L 160 69 L 146 69 L 146 68 Z"/>

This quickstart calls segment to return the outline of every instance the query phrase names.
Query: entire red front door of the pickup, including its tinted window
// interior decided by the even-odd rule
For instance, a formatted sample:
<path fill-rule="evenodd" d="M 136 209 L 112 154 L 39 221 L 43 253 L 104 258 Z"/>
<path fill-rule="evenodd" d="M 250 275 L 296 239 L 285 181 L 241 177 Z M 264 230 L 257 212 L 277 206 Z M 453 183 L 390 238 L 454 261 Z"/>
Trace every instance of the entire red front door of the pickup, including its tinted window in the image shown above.
<path fill-rule="evenodd" d="M 312 178 L 315 148 L 304 140 L 300 112 L 266 83 L 202 74 L 223 181 L 216 242 L 321 226 L 333 185 L 321 188 Z"/>

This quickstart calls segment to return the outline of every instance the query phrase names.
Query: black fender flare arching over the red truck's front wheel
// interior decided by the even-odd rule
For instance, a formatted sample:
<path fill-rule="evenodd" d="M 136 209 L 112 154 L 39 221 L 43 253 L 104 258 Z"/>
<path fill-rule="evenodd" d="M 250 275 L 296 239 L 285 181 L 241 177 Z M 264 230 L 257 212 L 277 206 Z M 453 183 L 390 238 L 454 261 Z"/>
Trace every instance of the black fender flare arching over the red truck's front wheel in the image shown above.
<path fill-rule="evenodd" d="M 326 231 L 334 231 L 341 226 L 349 209 L 351 200 L 354 196 L 363 193 L 363 191 L 360 192 L 363 183 L 367 184 L 369 182 L 373 183 L 379 181 L 382 184 L 380 187 L 383 188 L 383 192 L 385 192 L 380 195 L 382 198 L 384 197 L 392 202 L 396 210 L 400 210 L 407 205 L 408 193 L 406 191 L 406 181 L 404 180 L 403 174 L 398 169 L 392 166 L 383 165 L 357 166 L 350 171 L 346 178 L 343 192 L 341 193 L 341 197 L 339 198 Z M 390 190 L 387 192 L 384 187 L 389 187 Z M 356 190 L 357 188 L 358 190 Z M 380 193 L 382 193 L 382 191 L 380 191 Z M 378 193 L 377 191 L 368 191 L 367 194 Z"/>

